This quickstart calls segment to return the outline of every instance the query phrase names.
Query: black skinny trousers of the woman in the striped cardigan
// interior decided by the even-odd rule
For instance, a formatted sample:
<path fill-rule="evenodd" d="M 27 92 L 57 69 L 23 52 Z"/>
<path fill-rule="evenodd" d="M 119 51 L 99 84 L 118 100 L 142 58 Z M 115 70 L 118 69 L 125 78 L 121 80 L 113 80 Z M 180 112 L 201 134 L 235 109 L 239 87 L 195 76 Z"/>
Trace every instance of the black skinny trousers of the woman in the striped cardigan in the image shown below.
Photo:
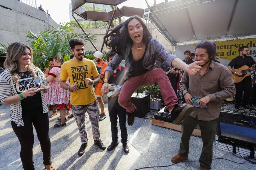
<path fill-rule="evenodd" d="M 22 119 L 24 126 L 18 126 L 11 121 L 13 131 L 21 144 L 21 162 L 24 170 L 34 170 L 33 165 L 33 144 L 34 133 L 33 126 L 43 152 L 43 164 L 51 165 L 51 141 L 49 138 L 49 118 L 48 114 L 42 113 L 42 108 L 35 108 L 30 111 L 22 110 Z"/>

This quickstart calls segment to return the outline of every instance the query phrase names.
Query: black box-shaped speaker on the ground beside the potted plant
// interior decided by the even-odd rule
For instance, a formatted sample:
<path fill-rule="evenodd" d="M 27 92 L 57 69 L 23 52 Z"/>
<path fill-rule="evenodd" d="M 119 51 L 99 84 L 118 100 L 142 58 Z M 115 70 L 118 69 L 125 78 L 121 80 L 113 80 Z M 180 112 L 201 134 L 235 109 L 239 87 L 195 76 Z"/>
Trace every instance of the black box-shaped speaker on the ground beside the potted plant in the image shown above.
<path fill-rule="evenodd" d="M 143 96 L 142 93 L 134 93 L 131 97 L 132 103 L 136 106 L 135 117 L 143 118 L 150 110 L 150 95 Z"/>

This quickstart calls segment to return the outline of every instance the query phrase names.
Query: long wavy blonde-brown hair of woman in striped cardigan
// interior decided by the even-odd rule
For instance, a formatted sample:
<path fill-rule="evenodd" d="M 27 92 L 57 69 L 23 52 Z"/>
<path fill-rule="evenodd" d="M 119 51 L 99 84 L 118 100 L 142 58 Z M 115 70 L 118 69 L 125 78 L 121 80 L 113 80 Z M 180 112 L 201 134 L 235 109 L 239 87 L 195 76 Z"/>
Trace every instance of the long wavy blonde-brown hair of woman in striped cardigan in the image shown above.
<path fill-rule="evenodd" d="M 31 63 L 28 65 L 28 72 L 32 75 L 33 78 L 36 77 L 36 66 L 33 64 L 33 50 L 27 45 L 21 42 L 14 42 L 9 45 L 6 52 L 6 60 L 4 61 L 4 66 L 10 71 L 13 75 L 13 81 L 18 84 L 18 80 L 21 78 L 19 75 L 19 61 L 18 59 L 25 52 L 26 49 L 29 49 L 31 53 Z"/>

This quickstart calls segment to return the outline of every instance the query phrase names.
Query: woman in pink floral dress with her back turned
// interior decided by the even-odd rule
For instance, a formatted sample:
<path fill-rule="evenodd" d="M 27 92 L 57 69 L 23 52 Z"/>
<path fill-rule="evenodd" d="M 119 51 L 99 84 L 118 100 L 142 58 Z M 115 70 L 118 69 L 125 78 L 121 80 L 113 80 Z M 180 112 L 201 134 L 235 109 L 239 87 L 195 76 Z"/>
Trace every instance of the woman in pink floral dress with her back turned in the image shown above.
<path fill-rule="evenodd" d="M 57 55 L 53 59 L 54 67 L 50 70 L 46 81 L 49 82 L 50 90 L 46 93 L 46 103 L 49 111 L 56 109 L 60 110 L 60 123 L 55 124 L 54 127 L 66 126 L 65 115 L 66 109 L 70 109 L 70 91 L 60 87 L 59 78 L 63 58 Z"/>

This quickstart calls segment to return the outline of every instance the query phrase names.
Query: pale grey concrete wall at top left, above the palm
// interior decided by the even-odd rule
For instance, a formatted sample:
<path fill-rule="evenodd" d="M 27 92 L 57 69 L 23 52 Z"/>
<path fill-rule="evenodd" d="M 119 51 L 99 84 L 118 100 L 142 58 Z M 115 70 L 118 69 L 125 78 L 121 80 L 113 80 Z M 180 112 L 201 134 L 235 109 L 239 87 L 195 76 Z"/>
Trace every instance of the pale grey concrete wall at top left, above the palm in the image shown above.
<path fill-rule="evenodd" d="M 46 12 L 26 5 L 17 0 L 0 0 L 0 43 L 26 42 L 26 32 L 28 30 L 36 33 L 49 25 L 58 27 L 59 25 L 51 19 Z M 29 45 L 29 44 L 28 44 Z"/>

